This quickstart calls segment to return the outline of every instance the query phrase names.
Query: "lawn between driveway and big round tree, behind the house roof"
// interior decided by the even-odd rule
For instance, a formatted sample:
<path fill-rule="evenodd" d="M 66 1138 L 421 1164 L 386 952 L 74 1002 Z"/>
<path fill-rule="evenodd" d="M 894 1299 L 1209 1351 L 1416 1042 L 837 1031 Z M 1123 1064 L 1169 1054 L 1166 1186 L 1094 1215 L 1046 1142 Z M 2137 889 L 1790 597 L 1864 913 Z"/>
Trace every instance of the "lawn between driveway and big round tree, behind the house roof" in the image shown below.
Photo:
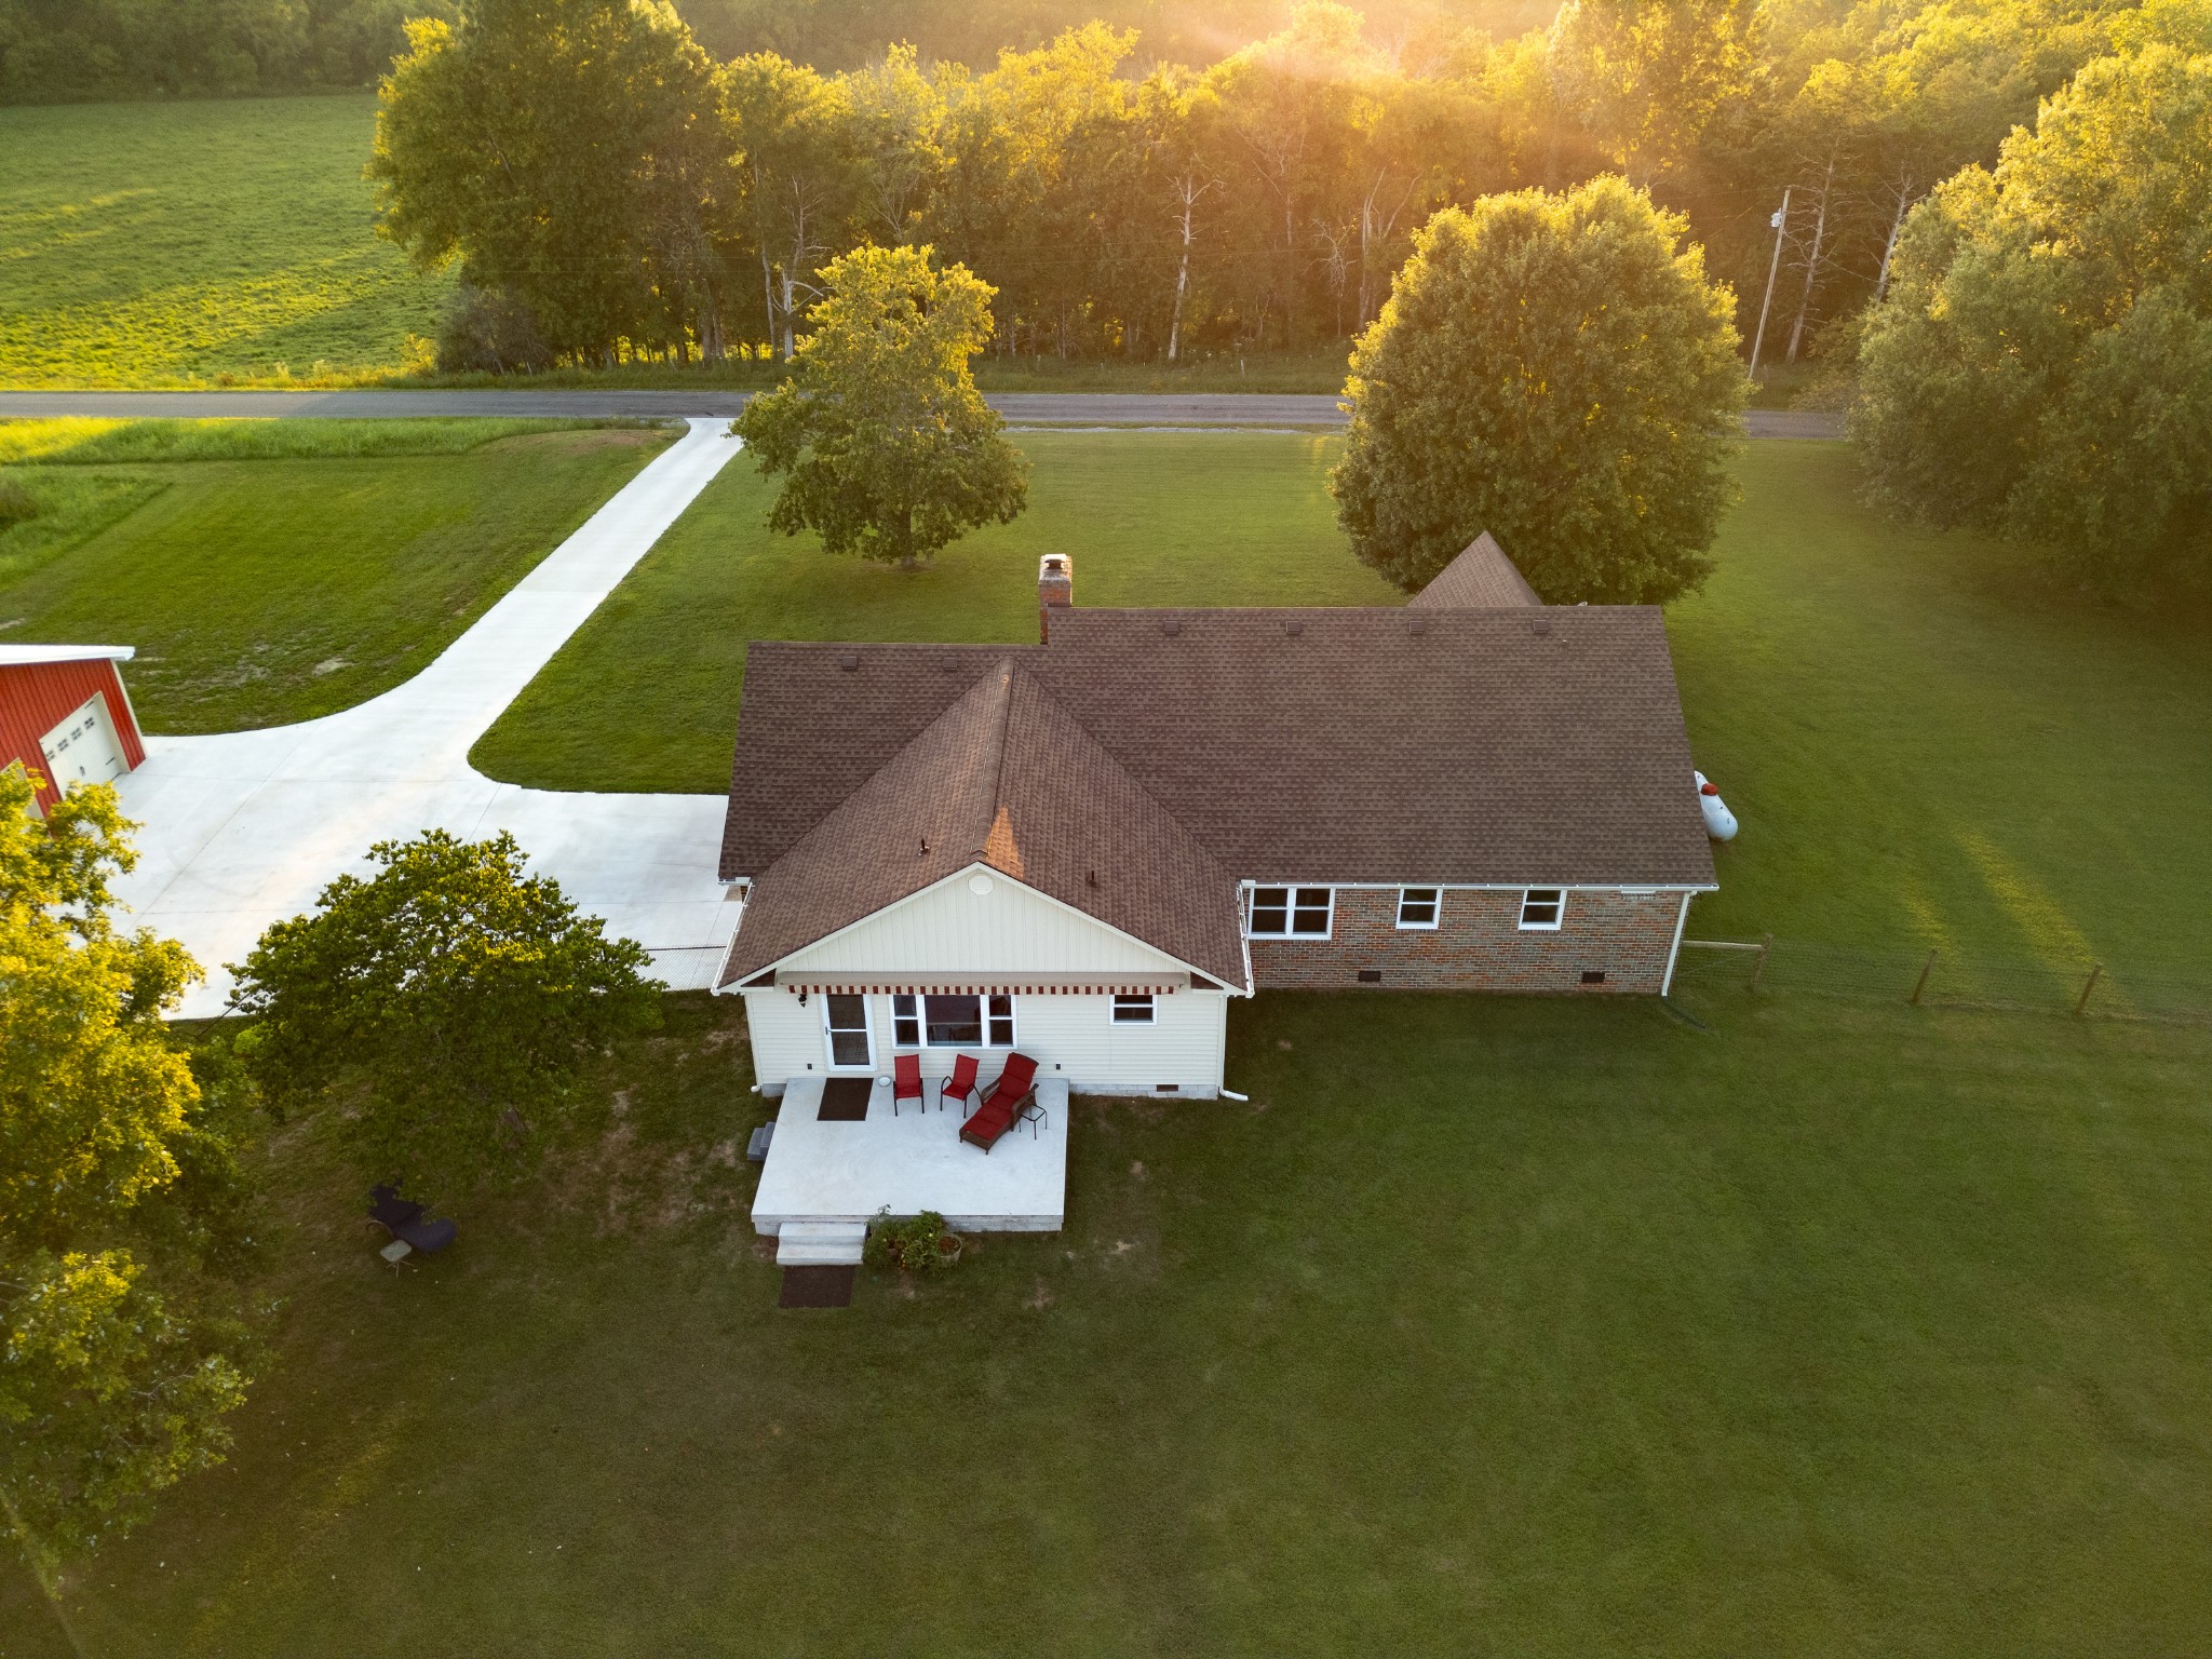
<path fill-rule="evenodd" d="M 1037 557 L 1077 604 L 1394 604 L 1345 551 L 1332 438 L 1022 431 L 1029 511 L 925 571 L 772 535 L 734 460 L 484 734 L 484 772 L 551 790 L 723 790 L 748 639 L 1037 637 Z"/>

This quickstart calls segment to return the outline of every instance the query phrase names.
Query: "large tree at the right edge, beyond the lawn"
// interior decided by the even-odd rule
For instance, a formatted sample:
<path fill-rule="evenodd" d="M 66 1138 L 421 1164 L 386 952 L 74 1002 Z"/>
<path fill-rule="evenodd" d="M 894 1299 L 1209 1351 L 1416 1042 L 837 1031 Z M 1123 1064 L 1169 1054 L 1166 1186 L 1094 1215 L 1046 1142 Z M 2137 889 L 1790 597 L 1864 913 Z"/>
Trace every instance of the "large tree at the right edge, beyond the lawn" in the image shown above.
<path fill-rule="evenodd" d="M 2208 13 L 2146 13 L 1913 210 L 1854 416 L 1891 504 L 2104 586 L 2212 584 Z"/>

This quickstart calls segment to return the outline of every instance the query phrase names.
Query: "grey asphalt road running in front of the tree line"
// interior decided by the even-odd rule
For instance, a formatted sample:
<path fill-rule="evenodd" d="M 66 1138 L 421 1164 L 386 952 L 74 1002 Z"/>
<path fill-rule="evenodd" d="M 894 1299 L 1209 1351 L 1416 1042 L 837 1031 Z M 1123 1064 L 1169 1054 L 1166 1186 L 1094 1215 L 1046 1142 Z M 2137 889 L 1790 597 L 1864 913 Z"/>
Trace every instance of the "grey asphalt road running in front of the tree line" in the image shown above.
<path fill-rule="evenodd" d="M 0 416 L 734 416 L 745 392 L 0 392 Z M 1018 425 L 1071 427 L 1340 427 L 1334 396 L 1270 392 L 995 392 Z M 1752 409 L 1752 438 L 1840 438 L 1812 409 Z"/>

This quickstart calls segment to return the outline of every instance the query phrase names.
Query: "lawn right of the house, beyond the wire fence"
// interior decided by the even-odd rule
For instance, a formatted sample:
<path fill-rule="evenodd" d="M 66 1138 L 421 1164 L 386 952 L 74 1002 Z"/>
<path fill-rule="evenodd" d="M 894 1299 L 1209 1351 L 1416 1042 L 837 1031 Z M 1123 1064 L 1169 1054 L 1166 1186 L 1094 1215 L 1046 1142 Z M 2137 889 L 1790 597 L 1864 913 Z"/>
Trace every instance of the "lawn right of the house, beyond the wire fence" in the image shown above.
<path fill-rule="evenodd" d="M 1754 442 L 1668 611 L 1743 834 L 1694 931 L 2172 964 L 2212 980 L 2212 641 L 1898 529 L 1845 445 Z"/>

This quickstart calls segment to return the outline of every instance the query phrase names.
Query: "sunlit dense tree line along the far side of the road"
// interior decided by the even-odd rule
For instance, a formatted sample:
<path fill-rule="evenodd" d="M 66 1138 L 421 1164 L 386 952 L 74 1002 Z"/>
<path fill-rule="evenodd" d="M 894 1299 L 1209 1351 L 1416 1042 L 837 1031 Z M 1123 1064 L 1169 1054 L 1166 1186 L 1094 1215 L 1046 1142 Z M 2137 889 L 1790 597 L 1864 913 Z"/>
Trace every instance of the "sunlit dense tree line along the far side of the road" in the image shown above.
<path fill-rule="evenodd" d="M 1571 0 L 1506 40 L 1378 40 L 1312 0 L 1203 69 L 1086 22 L 989 69 L 894 46 L 827 73 L 717 60 L 659 0 L 465 0 L 414 27 L 372 170 L 389 234 L 458 257 L 520 363 L 787 356 L 863 243 L 989 281 L 998 352 L 1318 349 L 1376 316 L 1438 208 L 1599 173 L 1688 217 L 1745 336 L 1772 265 L 1765 352 L 1796 358 L 1885 288 L 1911 206 L 2128 11 Z M 449 361 L 507 361 L 462 334 Z"/>

